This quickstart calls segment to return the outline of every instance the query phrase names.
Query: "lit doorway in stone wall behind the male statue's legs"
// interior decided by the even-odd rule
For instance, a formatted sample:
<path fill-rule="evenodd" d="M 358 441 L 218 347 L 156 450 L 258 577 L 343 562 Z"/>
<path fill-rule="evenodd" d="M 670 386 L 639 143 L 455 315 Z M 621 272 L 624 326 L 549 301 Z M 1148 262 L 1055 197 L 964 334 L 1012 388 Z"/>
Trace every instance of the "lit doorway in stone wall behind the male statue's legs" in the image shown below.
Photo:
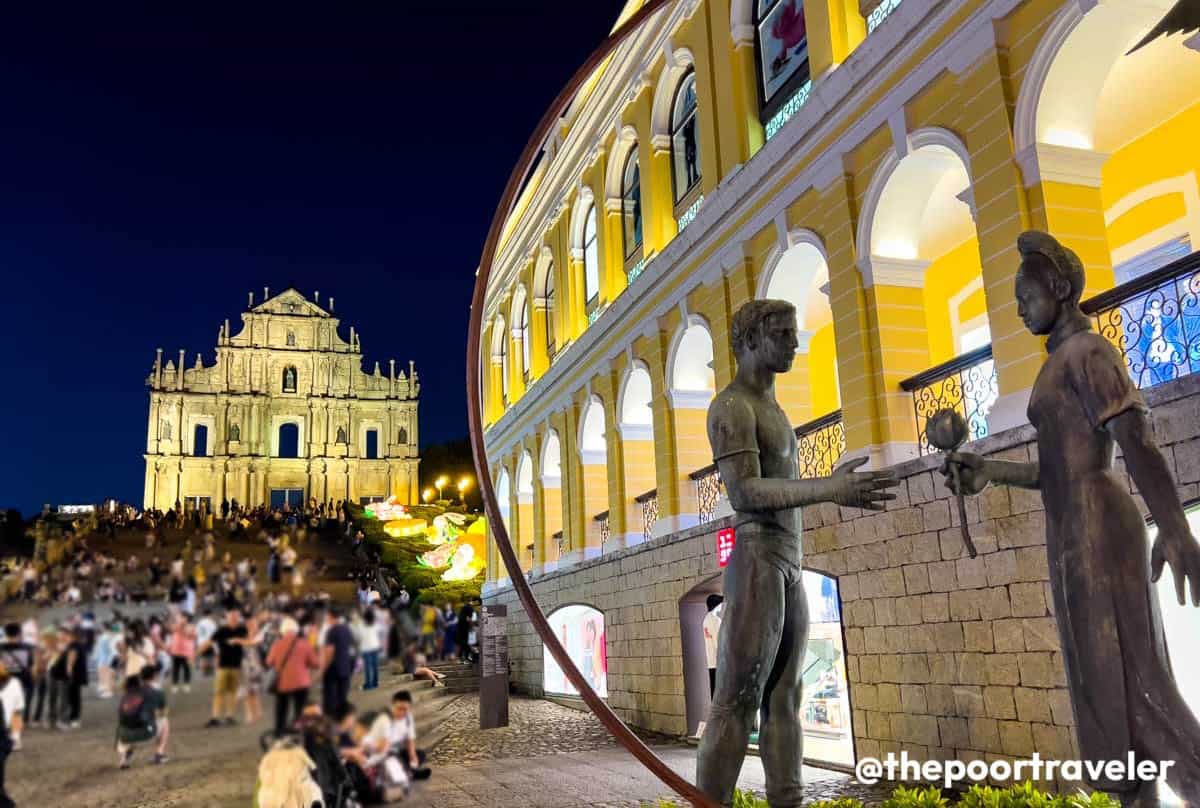
<path fill-rule="evenodd" d="M 722 575 L 715 575 L 679 599 L 684 705 L 688 735 L 692 737 L 701 731 L 712 704 L 704 618 L 708 616 L 709 595 L 721 594 L 721 585 Z M 810 621 L 809 647 L 804 659 L 804 698 L 800 706 L 804 760 L 815 766 L 853 767 L 854 730 L 851 723 L 838 579 L 805 569 L 804 589 L 809 600 Z M 751 746 L 756 740 L 751 736 Z"/>

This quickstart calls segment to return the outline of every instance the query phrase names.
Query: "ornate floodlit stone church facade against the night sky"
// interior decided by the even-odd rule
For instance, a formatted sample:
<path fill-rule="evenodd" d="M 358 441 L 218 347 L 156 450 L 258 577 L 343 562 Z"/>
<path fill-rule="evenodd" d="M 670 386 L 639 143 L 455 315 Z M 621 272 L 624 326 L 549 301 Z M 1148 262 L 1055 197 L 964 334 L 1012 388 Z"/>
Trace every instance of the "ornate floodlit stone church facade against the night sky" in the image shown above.
<path fill-rule="evenodd" d="M 164 364 L 158 349 L 146 379 L 146 508 L 419 502 L 416 370 L 391 360 L 364 371 L 355 329 L 343 340 L 334 299 L 318 298 L 250 294 L 210 365 L 197 354 L 185 366 L 184 351 Z"/>

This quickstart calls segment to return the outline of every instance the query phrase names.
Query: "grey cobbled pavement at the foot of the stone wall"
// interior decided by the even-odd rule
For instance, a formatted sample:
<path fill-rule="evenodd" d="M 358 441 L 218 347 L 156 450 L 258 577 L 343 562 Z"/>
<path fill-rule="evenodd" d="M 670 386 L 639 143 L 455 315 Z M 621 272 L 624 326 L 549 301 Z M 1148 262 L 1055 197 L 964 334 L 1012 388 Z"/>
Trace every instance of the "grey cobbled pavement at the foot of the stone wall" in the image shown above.
<path fill-rule="evenodd" d="M 671 794 L 624 749 L 590 713 L 550 701 L 514 698 L 508 728 L 479 730 L 478 696 L 451 708 L 445 740 L 433 750 L 434 776 L 409 804 L 427 808 L 607 808 L 653 806 Z M 692 779 L 696 750 L 647 737 L 672 768 Z M 856 796 L 883 800 L 883 789 L 850 777 L 805 767 L 811 800 Z M 762 794 L 762 761 L 748 756 L 740 788 Z"/>

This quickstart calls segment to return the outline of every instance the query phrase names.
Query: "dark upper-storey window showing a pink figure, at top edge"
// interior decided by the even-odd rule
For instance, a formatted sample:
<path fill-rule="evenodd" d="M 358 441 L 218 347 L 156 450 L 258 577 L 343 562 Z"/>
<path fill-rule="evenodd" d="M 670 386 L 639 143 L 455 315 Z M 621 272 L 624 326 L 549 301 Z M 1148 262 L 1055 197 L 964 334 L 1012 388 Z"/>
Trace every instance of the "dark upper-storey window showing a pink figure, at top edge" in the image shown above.
<path fill-rule="evenodd" d="M 804 0 L 757 0 L 758 76 L 762 119 L 770 119 L 809 80 Z"/>

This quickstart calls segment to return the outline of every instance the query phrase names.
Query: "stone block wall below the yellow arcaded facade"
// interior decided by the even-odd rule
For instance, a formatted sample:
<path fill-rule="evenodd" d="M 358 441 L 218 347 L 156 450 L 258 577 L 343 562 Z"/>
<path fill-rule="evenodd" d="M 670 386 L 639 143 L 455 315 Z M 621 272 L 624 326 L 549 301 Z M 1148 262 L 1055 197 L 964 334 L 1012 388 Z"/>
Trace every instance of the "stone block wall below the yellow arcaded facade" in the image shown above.
<path fill-rule="evenodd" d="M 1154 435 L 1184 502 L 1200 497 L 1200 377 L 1146 391 Z M 967 448 L 1036 460 L 1031 426 Z M 920 759 L 1074 759 L 1074 718 L 1049 588 L 1037 491 L 991 487 L 968 498 L 977 558 L 958 507 L 923 457 L 896 467 L 884 513 L 822 504 L 804 513 L 805 567 L 839 580 L 856 754 Z M 1117 473 L 1129 485 L 1120 457 Z M 1130 490 L 1133 487 L 1130 486 Z M 1136 497 L 1145 510 L 1141 497 Z M 722 523 L 683 531 L 534 579 L 548 614 L 586 603 L 605 612 L 608 702 L 628 723 L 685 730 L 679 599 L 712 579 Z M 541 693 L 541 642 L 511 588 L 516 684 Z"/>

